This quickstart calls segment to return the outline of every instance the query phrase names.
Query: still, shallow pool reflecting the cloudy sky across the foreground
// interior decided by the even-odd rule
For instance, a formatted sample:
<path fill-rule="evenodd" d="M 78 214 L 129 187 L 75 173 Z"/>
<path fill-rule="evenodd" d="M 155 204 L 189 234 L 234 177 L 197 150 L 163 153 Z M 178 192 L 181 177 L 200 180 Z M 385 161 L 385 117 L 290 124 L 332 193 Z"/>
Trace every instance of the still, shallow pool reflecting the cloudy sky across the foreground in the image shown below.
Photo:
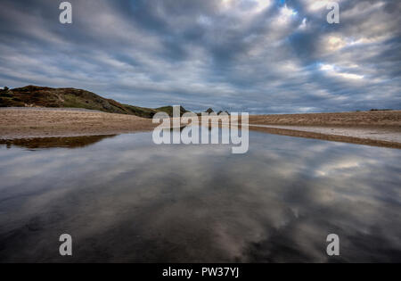
<path fill-rule="evenodd" d="M 3 143 L 0 261 L 399 262 L 400 156 L 258 132 L 246 154 L 151 133 Z"/>

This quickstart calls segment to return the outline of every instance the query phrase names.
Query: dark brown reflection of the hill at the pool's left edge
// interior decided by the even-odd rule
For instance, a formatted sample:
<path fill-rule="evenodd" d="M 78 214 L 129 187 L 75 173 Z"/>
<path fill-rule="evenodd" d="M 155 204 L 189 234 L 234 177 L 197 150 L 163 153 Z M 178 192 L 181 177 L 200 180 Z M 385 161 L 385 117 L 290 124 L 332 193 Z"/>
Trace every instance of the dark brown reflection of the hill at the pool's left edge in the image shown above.
<path fill-rule="evenodd" d="M 35 137 L 8 140 L 0 139 L 0 145 L 7 145 L 7 147 L 11 147 L 12 145 L 14 145 L 29 149 L 51 147 L 77 148 L 94 145 L 104 138 L 109 138 L 113 136 L 116 135 Z"/>

